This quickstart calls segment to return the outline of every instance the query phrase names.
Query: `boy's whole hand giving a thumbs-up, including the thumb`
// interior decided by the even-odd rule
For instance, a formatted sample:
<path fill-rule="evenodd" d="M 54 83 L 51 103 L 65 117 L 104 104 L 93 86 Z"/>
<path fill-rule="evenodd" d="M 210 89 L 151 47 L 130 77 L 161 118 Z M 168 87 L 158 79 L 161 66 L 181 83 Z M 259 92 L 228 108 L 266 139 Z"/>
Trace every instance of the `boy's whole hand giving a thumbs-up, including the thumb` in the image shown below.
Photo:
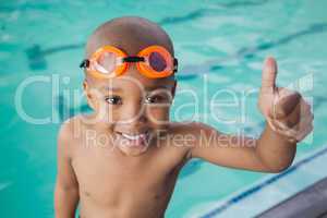
<path fill-rule="evenodd" d="M 302 141 L 313 130 L 311 106 L 298 92 L 276 86 L 277 63 L 264 64 L 258 108 L 270 128 L 291 142 Z"/>

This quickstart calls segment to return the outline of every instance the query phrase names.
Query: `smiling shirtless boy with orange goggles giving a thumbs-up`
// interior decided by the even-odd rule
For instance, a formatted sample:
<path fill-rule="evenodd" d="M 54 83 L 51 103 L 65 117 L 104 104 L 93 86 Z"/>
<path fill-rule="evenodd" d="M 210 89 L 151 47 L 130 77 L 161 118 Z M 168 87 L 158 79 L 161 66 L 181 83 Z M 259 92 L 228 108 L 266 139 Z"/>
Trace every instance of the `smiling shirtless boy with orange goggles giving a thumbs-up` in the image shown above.
<path fill-rule="evenodd" d="M 164 217 L 180 169 L 194 157 L 264 172 L 291 165 L 313 114 L 300 94 L 276 87 L 272 58 L 263 70 L 258 107 L 268 124 L 258 140 L 169 122 L 177 63 L 169 36 L 145 19 L 116 19 L 89 37 L 81 66 L 94 113 L 60 130 L 57 218 L 74 217 L 78 202 L 83 218 Z"/>

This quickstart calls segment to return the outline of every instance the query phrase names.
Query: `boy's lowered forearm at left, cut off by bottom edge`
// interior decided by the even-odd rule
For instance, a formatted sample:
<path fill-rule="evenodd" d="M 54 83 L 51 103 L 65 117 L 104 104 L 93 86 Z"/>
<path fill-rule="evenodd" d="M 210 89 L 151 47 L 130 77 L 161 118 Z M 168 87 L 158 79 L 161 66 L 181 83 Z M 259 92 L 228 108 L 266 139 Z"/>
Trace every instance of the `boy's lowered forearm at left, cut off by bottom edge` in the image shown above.
<path fill-rule="evenodd" d="M 57 184 L 55 191 L 56 218 L 74 218 L 78 198 L 78 189 L 64 189 Z"/>

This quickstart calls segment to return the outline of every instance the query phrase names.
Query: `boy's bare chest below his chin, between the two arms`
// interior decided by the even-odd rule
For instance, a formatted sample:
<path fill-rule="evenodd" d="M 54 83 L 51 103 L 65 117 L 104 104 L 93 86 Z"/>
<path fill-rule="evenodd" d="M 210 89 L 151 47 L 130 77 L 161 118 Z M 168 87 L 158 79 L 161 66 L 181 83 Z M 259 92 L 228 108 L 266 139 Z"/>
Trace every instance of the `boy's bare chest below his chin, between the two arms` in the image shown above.
<path fill-rule="evenodd" d="M 129 159 L 99 148 L 78 150 L 73 168 L 81 195 L 97 204 L 114 206 L 121 202 L 132 205 L 168 199 L 181 167 L 179 164 L 178 158 L 167 159 L 156 153 L 143 159 Z"/>

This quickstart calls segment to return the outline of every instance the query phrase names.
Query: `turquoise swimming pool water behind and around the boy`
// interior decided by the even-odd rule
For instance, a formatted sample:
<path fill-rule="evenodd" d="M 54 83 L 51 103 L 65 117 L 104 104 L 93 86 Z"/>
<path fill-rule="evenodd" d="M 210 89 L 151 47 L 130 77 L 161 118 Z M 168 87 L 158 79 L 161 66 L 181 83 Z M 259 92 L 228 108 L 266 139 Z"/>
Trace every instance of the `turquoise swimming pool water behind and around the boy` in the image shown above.
<path fill-rule="evenodd" d="M 198 120 L 223 132 L 257 135 L 264 122 L 256 94 L 249 92 L 259 87 L 264 58 L 274 56 L 278 84 L 303 90 L 314 104 L 315 130 L 299 146 L 298 158 L 322 147 L 327 123 L 326 8 L 323 0 L 0 0 L 0 217 L 53 216 L 58 129 L 70 116 L 88 111 L 85 100 L 74 106 L 72 92 L 82 93 L 77 66 L 83 46 L 97 25 L 117 16 L 150 19 L 172 37 L 181 66 L 173 120 Z M 15 96 L 29 76 L 44 81 L 25 88 L 22 107 L 31 117 L 51 117 L 53 122 L 32 124 L 19 114 Z M 57 82 L 59 87 L 52 89 Z M 197 94 L 198 108 L 180 110 L 195 102 L 184 92 L 190 89 Z M 232 92 L 237 106 L 209 110 L 206 99 L 222 89 L 219 100 L 233 101 Z M 214 116 L 238 122 L 215 122 Z M 190 217 L 264 177 L 195 159 L 180 174 L 167 217 Z"/>

